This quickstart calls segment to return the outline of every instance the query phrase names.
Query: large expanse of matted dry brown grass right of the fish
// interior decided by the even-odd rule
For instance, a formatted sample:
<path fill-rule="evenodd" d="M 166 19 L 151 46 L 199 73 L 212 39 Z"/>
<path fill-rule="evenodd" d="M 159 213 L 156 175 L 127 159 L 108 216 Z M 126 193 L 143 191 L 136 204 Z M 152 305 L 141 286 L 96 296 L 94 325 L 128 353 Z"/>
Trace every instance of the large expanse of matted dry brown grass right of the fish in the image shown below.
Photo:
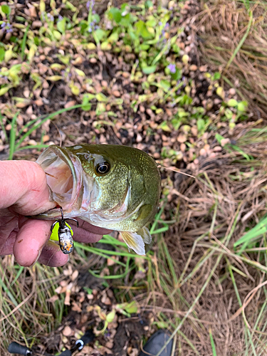
<path fill-rule="evenodd" d="M 154 313 L 159 318 L 161 311 L 179 325 L 177 355 L 213 355 L 209 333 L 216 355 L 267 353 L 266 288 L 261 284 L 266 282 L 266 239 L 241 256 L 234 250 L 234 242 L 267 211 L 266 130 L 239 125 L 235 137 L 241 152 L 229 149 L 205 159 L 193 172 L 196 179 L 183 180 L 168 206 L 178 216 L 164 236 L 178 282 L 170 283 L 158 251 L 160 283 L 169 286 L 169 295 L 163 298 L 155 281 Z M 166 212 L 166 217 L 171 216 Z"/>

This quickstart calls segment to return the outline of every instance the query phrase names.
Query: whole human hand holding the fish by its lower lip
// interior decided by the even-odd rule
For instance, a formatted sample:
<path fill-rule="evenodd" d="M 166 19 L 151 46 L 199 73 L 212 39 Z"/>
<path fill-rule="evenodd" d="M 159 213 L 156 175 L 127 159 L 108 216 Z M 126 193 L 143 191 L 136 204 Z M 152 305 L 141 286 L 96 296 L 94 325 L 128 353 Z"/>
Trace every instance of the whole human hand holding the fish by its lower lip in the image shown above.
<path fill-rule="evenodd" d="M 21 266 L 31 266 L 37 260 L 48 266 L 63 266 L 68 261 L 59 246 L 48 241 L 53 221 L 28 219 L 53 209 L 49 200 L 46 174 L 36 162 L 0 162 L 0 256 L 14 253 Z M 97 242 L 110 230 L 79 220 L 73 227 L 73 237 L 80 242 Z"/>

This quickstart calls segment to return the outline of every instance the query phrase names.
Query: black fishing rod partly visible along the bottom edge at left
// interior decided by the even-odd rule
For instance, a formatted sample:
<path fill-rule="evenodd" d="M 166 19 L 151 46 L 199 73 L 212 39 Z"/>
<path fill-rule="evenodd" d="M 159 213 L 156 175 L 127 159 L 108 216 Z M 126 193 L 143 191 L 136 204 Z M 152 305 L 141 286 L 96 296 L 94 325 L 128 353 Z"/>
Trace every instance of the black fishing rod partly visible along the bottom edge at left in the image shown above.
<path fill-rule="evenodd" d="M 61 352 L 61 354 L 58 356 L 71 356 L 73 355 L 73 352 L 82 350 L 86 344 L 92 342 L 94 339 L 95 339 L 95 334 L 93 333 L 93 330 L 87 330 L 85 335 L 83 335 L 83 337 L 80 337 L 80 339 L 75 342 L 75 345 L 70 350 L 65 350 Z M 19 354 L 23 356 L 37 355 L 33 350 L 31 350 L 26 346 L 20 345 L 16 341 L 11 342 L 8 351 L 11 354 Z M 46 354 L 46 356 L 48 355 L 53 356 L 51 354 Z"/>

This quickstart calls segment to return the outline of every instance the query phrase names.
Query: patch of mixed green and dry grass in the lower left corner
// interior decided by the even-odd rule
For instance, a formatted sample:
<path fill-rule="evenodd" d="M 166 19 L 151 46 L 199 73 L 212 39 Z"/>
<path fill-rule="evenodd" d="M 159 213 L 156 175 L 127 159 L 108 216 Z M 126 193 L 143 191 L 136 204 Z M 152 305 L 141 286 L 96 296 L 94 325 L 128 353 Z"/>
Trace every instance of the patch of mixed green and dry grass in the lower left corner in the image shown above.
<path fill-rule="evenodd" d="M 23 268 L 13 256 L 5 256 L 0 268 L 1 354 L 5 355 L 10 340 L 30 346 L 38 335 L 51 333 L 61 324 L 65 307 L 62 298 L 53 307 L 48 302 L 60 276 L 57 268 L 44 268 L 38 263 Z"/>

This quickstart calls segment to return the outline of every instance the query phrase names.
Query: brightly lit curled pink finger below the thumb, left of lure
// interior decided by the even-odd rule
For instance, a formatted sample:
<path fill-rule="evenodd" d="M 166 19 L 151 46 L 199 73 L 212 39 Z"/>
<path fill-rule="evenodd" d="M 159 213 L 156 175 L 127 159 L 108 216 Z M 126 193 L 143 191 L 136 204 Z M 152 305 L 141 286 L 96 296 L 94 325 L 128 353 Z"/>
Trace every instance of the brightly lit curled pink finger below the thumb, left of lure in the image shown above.
<path fill-rule="evenodd" d="M 51 236 L 51 221 L 31 220 L 24 222 L 14 243 L 14 256 L 21 266 L 32 266 Z"/>

